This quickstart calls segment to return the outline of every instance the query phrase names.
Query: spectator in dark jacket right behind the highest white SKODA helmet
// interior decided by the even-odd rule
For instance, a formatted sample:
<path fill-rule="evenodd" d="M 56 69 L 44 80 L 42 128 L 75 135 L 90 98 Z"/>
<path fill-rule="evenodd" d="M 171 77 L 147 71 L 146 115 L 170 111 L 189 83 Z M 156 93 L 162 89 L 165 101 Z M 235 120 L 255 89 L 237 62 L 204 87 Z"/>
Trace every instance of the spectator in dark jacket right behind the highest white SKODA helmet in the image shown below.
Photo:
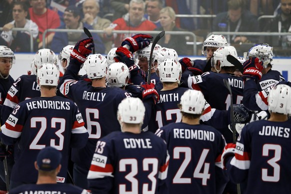
<path fill-rule="evenodd" d="M 228 11 L 218 13 L 213 21 L 213 31 L 259 31 L 257 17 L 244 8 L 244 0 L 229 0 Z M 257 42 L 256 36 L 225 35 L 228 43 Z"/>

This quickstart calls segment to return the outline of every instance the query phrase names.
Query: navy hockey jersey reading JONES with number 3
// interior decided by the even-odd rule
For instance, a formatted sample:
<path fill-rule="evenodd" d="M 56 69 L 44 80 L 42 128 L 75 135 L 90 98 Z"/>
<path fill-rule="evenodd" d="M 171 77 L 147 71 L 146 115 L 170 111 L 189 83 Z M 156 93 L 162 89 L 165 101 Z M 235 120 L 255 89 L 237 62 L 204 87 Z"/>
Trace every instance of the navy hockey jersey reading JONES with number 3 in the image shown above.
<path fill-rule="evenodd" d="M 233 182 L 247 179 L 244 193 L 291 193 L 290 126 L 290 120 L 258 120 L 242 128 L 226 168 Z"/>

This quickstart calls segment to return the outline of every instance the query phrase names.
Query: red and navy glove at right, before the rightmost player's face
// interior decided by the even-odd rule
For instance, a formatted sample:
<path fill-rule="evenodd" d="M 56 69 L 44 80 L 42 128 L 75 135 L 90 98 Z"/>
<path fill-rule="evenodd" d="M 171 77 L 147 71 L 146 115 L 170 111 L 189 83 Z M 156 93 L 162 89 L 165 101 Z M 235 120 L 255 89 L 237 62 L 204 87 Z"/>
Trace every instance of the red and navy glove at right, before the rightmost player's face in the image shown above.
<path fill-rule="evenodd" d="M 245 78 L 252 78 L 255 80 L 260 80 L 262 76 L 262 61 L 260 61 L 256 57 L 249 58 L 243 63 L 243 73 L 242 78 L 245 80 Z"/>

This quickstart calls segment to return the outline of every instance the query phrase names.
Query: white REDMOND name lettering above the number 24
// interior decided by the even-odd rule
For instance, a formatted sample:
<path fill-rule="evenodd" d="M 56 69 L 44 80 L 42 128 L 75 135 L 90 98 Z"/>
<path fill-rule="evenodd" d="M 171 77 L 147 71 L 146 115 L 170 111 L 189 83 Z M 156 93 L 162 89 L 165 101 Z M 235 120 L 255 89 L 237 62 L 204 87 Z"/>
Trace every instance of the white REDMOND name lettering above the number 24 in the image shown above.
<path fill-rule="evenodd" d="M 187 128 L 174 128 L 173 131 L 174 138 L 214 141 L 214 132 L 212 131 Z"/>

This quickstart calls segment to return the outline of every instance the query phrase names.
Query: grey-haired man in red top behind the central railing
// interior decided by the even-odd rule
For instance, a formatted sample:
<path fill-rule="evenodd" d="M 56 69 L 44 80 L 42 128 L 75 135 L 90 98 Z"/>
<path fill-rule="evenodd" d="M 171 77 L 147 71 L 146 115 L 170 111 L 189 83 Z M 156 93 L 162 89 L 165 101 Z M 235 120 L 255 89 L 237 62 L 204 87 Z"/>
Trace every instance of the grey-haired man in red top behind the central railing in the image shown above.
<path fill-rule="evenodd" d="M 115 19 L 105 28 L 104 38 L 114 39 L 114 46 L 119 46 L 121 42 L 133 33 L 113 34 L 112 30 L 153 30 L 155 24 L 144 18 L 145 2 L 143 0 L 130 0 L 128 13 Z"/>

